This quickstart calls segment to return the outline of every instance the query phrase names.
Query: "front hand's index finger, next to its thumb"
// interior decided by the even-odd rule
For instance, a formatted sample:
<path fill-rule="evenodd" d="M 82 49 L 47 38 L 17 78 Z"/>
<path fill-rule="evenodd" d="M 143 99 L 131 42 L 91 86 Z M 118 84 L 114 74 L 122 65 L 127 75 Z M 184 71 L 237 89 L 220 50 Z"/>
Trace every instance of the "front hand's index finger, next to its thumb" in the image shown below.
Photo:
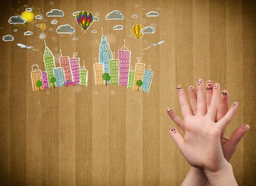
<path fill-rule="evenodd" d="M 187 117 L 188 115 L 192 115 L 192 110 L 188 104 L 188 100 L 186 98 L 185 91 L 183 90 L 182 86 L 177 86 L 177 95 L 180 102 L 181 113 L 183 118 Z"/>

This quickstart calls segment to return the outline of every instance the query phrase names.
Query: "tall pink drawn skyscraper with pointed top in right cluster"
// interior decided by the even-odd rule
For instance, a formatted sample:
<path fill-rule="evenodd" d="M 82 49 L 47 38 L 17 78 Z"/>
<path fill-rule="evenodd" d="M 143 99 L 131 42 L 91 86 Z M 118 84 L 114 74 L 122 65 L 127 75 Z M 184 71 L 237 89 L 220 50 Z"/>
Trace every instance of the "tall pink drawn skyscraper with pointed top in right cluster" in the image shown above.
<path fill-rule="evenodd" d="M 125 46 L 125 40 L 123 47 L 118 50 L 119 59 L 119 85 L 127 86 L 129 68 L 130 68 L 131 51 Z"/>

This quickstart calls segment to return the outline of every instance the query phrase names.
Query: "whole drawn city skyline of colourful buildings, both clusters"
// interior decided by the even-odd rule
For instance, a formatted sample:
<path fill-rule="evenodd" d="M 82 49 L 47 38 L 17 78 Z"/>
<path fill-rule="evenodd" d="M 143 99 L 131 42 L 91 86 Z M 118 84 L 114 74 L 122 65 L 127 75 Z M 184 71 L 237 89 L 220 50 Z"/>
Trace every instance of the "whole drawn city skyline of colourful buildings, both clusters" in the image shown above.
<path fill-rule="evenodd" d="M 45 41 L 44 41 L 45 42 Z M 46 45 L 46 42 L 45 42 Z M 60 67 L 56 67 L 52 52 L 46 46 L 44 49 L 43 61 L 46 71 L 41 71 L 37 64 L 32 65 L 31 81 L 33 91 L 40 91 L 47 88 L 55 88 L 69 85 L 88 85 L 88 70 L 83 65 L 80 68 L 80 58 L 74 52 L 73 57 L 59 57 Z M 126 86 L 129 89 L 150 92 L 150 86 L 154 72 L 150 65 L 145 69 L 145 64 L 141 62 L 141 57 L 137 57 L 135 69 L 130 67 L 131 51 L 125 46 L 118 49 L 118 58 L 115 59 L 110 50 L 109 43 L 102 31 L 100 52 L 98 63 L 93 64 L 95 85 L 118 85 Z M 110 76 L 109 80 L 104 80 L 104 75 Z M 137 82 L 141 81 L 141 84 Z"/>

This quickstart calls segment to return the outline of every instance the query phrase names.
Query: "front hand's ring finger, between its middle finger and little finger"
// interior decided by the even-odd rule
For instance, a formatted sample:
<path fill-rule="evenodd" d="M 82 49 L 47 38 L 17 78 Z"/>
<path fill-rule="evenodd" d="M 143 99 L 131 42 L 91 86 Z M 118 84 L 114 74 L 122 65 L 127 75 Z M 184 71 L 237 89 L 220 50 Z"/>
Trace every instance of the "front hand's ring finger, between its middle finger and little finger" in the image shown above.
<path fill-rule="evenodd" d="M 210 119 L 212 119 L 212 121 L 214 122 L 216 121 L 219 102 L 220 102 L 220 84 L 215 83 L 213 86 L 212 101 L 210 101 L 210 106 L 207 112 L 208 117 L 210 117 Z"/>

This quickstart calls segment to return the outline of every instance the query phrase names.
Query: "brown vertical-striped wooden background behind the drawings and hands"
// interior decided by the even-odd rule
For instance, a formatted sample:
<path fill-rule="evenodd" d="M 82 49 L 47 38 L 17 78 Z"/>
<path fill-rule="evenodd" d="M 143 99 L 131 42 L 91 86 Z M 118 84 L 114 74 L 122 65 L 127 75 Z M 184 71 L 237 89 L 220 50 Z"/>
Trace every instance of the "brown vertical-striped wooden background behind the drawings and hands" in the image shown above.
<path fill-rule="evenodd" d="M 59 49 L 69 56 L 79 52 L 89 70 L 88 87 L 32 92 L 31 65 L 44 70 L 41 31 L 29 28 L 34 34 L 24 36 L 26 28 L 13 32 L 15 27 L 7 23 L 24 4 L 39 7 L 44 15 L 46 42 L 57 66 Z M 56 34 L 57 26 L 46 17 L 51 9 L 64 11 L 57 25 L 69 23 L 75 34 Z M 79 10 L 100 18 L 86 34 L 72 16 Z M 105 15 L 112 10 L 120 10 L 125 19 L 107 22 Z M 148 11 L 160 16 L 148 18 Z M 180 185 L 189 165 L 168 135 L 175 124 L 166 108 L 180 113 L 176 85 L 195 85 L 197 78 L 220 82 L 229 91 L 230 104 L 239 102 L 227 133 L 241 123 L 251 129 L 231 162 L 239 185 L 255 185 L 255 1 L 2 1 L 0 16 L 1 36 L 15 38 L 0 42 L 0 185 Z M 130 28 L 138 23 L 155 27 L 155 34 L 137 41 Z M 124 29 L 114 31 L 116 24 Z M 101 27 L 116 56 L 126 39 L 131 66 L 136 57 L 147 68 L 151 65 L 149 94 L 94 85 L 92 64 L 98 58 Z M 97 34 L 90 33 L 94 29 Z M 165 40 L 162 46 L 143 50 L 160 40 Z"/>

